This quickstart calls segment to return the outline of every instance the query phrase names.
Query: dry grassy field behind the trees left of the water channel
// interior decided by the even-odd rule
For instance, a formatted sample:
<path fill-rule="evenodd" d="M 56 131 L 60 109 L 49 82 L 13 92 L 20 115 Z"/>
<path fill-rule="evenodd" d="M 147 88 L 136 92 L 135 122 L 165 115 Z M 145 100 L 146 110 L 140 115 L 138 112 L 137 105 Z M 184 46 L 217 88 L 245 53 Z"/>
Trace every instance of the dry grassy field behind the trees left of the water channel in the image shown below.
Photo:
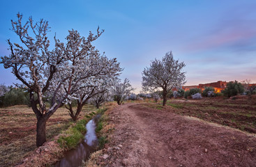
<path fill-rule="evenodd" d="M 81 117 L 93 106 L 84 106 Z M 47 141 L 67 129 L 72 122 L 64 107 L 47 121 Z M 36 116 L 27 106 L 0 109 L 0 166 L 14 166 L 36 149 Z"/>

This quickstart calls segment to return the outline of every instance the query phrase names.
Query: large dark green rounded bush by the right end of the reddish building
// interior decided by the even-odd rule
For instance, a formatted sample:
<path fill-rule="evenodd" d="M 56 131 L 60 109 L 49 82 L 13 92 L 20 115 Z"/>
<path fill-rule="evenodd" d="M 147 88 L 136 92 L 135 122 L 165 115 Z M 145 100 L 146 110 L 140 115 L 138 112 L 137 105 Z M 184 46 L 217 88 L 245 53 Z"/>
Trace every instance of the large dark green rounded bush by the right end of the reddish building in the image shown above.
<path fill-rule="evenodd" d="M 239 83 L 238 81 L 234 81 L 234 82 L 231 81 L 227 83 L 227 87 L 225 88 L 225 90 L 223 90 L 222 93 L 227 97 L 231 97 L 243 92 L 244 92 L 244 88 L 241 83 Z"/>

